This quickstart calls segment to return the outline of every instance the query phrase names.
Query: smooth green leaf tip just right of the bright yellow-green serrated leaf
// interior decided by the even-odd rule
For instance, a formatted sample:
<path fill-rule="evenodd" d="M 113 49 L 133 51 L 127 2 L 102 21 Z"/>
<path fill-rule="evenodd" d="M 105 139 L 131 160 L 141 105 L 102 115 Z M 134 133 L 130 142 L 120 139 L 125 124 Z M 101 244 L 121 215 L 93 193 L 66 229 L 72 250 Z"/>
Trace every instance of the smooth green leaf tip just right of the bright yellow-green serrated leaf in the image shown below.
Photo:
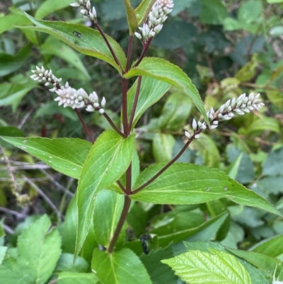
<path fill-rule="evenodd" d="M 241 257 L 241 259 L 245 259 L 249 263 L 253 264 L 253 266 L 264 269 L 270 273 L 271 276 L 273 275 L 275 268 L 281 265 L 281 261 L 279 261 L 279 259 L 275 259 L 274 257 L 267 256 L 265 254 L 259 254 L 253 251 L 230 249 L 229 247 L 226 249 L 231 251 L 232 254 L 235 254 L 236 256 Z"/>

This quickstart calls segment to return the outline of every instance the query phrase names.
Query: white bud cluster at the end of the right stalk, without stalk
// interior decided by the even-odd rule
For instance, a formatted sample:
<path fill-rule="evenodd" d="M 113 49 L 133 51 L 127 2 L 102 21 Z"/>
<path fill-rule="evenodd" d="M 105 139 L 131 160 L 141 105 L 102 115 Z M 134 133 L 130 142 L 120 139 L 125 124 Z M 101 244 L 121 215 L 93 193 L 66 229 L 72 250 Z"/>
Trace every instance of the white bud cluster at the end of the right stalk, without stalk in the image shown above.
<path fill-rule="evenodd" d="M 249 96 L 246 96 L 246 93 L 243 93 L 238 98 L 229 99 L 222 105 L 219 110 L 214 111 L 213 108 L 209 110 L 207 116 L 209 118 L 210 130 L 218 127 L 218 123 L 220 120 L 229 120 L 233 118 L 234 115 L 244 115 L 245 113 L 249 113 L 250 110 L 259 110 L 265 104 L 262 103 L 260 99 L 260 93 L 250 93 Z M 188 139 L 198 139 L 200 138 L 200 133 L 203 130 L 209 129 L 207 123 L 202 123 L 200 121 L 192 120 L 192 129 L 194 130 L 194 134 L 190 135 L 189 132 L 185 131 L 185 136 Z"/>

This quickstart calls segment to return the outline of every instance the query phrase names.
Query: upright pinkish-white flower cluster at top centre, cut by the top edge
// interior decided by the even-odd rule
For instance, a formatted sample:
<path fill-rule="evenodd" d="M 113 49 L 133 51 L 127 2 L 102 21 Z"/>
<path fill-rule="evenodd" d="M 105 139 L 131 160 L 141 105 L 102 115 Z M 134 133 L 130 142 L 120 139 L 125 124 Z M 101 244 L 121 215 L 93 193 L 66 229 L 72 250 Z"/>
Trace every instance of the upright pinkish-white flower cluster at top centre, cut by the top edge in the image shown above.
<path fill-rule="evenodd" d="M 154 38 L 155 35 L 160 33 L 163 23 L 166 21 L 168 13 L 171 13 L 173 6 L 173 0 L 157 0 L 154 6 L 152 6 L 142 28 L 139 27 L 141 34 L 134 33 L 134 35 L 144 43 L 149 38 Z"/>

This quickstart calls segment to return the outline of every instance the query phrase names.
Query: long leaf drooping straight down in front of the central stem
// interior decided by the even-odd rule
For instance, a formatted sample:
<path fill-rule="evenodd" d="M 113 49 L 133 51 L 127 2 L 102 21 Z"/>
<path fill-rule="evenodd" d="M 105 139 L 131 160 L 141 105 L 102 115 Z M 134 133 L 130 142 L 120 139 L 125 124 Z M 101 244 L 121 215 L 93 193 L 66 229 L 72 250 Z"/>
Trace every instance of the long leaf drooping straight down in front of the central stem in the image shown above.
<path fill-rule="evenodd" d="M 133 147 L 134 135 L 122 138 L 113 130 L 103 132 L 93 144 L 79 180 L 75 256 L 79 254 L 88 233 L 93 217 L 94 198 L 99 191 L 110 186 L 125 173 L 132 159 Z"/>

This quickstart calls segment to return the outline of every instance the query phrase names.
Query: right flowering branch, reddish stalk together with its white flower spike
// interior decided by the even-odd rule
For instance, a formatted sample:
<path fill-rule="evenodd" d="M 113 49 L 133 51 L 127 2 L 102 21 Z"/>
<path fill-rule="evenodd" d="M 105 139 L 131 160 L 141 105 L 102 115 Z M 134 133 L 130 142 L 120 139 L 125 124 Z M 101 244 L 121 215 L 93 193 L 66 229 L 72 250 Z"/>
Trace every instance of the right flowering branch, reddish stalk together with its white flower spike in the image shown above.
<path fill-rule="evenodd" d="M 230 120 L 233 118 L 235 114 L 243 115 L 245 113 L 249 113 L 250 110 L 259 110 L 262 106 L 264 106 L 264 103 L 260 100 L 260 93 L 255 95 L 254 93 L 250 93 L 249 96 L 246 96 L 246 93 L 243 93 L 238 98 L 233 98 L 232 100 L 228 100 L 224 105 L 222 105 L 219 110 L 214 112 L 214 109 L 211 108 L 209 112 L 207 113 L 207 116 L 209 117 L 209 123 L 210 123 L 210 130 L 215 129 L 218 127 L 218 123 L 220 120 Z M 190 143 L 193 140 L 197 140 L 200 138 L 200 133 L 204 130 L 209 129 L 207 126 L 207 123 L 201 123 L 200 121 L 196 121 L 195 119 L 192 120 L 192 129 L 194 130 L 193 134 L 190 135 L 189 132 L 185 131 L 185 136 L 188 138 L 187 142 L 185 143 L 184 147 L 180 150 L 180 152 L 166 164 L 163 166 L 163 168 L 158 171 L 152 178 L 149 179 L 149 181 L 146 181 L 142 186 L 139 186 L 136 190 L 132 191 L 132 194 L 136 194 L 141 189 L 145 188 L 146 186 L 149 186 L 150 183 L 156 180 L 158 176 L 163 174 L 166 169 L 169 168 L 175 161 L 177 161 L 183 152 L 185 152 L 185 149 L 190 145 Z"/>

